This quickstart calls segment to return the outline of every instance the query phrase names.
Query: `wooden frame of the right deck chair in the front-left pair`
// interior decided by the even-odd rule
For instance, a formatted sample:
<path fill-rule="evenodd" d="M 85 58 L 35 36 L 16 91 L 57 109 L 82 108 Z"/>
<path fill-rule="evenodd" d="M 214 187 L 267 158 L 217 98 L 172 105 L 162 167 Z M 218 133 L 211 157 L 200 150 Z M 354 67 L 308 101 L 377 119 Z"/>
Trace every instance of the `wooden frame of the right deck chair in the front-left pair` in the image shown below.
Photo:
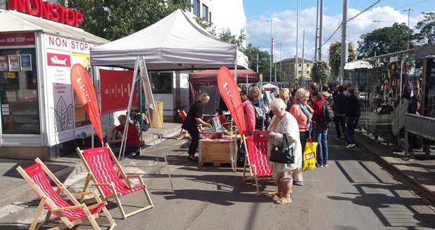
<path fill-rule="evenodd" d="M 139 180 L 140 186 L 143 187 L 143 189 L 141 189 L 141 190 L 143 190 L 145 192 L 145 196 L 147 198 L 149 205 L 146 205 L 145 207 L 140 208 L 138 210 L 135 210 L 133 212 L 126 213 L 122 207 L 122 203 L 121 203 L 121 199 L 120 199 L 121 194 L 119 194 L 119 191 L 116 191 L 116 188 L 114 187 L 114 183 L 112 182 L 110 184 L 101 184 L 100 182 L 98 182 L 98 179 L 95 178 L 95 176 L 93 175 L 93 172 L 91 171 L 91 167 L 89 166 L 88 162 L 86 161 L 85 156 L 83 156 L 83 151 L 81 149 L 79 149 L 79 147 L 77 147 L 76 151 L 79 154 L 81 161 L 85 165 L 86 170 L 88 170 L 88 176 L 86 177 L 86 182 L 85 182 L 85 185 L 83 187 L 83 192 L 86 192 L 86 189 L 89 186 L 89 182 L 91 182 L 91 180 L 92 180 L 93 184 L 91 184 L 91 185 L 97 187 L 98 192 L 100 193 L 100 196 L 101 196 L 103 201 L 107 201 L 111 198 L 115 199 L 116 204 L 118 205 L 118 208 L 119 208 L 119 212 L 121 212 L 121 216 L 123 219 L 126 219 L 127 217 L 135 215 L 139 212 L 145 211 L 149 208 L 154 208 L 154 204 L 151 201 L 151 197 L 149 196 L 148 191 L 147 191 L 147 186 L 143 182 L 142 177 L 138 174 L 126 175 L 121 164 L 119 164 L 118 160 L 116 159 L 116 156 L 113 154 L 112 149 L 110 149 L 109 144 L 106 143 L 105 148 L 107 148 L 107 152 L 109 153 L 110 158 L 112 158 L 112 161 L 113 161 L 114 165 L 116 166 L 117 175 L 120 175 L 120 177 L 125 181 L 124 184 L 126 185 L 126 187 L 128 187 L 129 189 L 133 189 L 133 187 L 131 186 L 131 182 L 130 182 L 130 180 L 128 180 L 128 178 L 136 178 Z M 119 180 L 121 180 L 121 178 L 119 178 Z M 109 186 L 112 190 L 112 194 L 109 196 L 105 196 L 105 194 L 103 193 L 102 188 L 101 188 L 103 186 Z"/>

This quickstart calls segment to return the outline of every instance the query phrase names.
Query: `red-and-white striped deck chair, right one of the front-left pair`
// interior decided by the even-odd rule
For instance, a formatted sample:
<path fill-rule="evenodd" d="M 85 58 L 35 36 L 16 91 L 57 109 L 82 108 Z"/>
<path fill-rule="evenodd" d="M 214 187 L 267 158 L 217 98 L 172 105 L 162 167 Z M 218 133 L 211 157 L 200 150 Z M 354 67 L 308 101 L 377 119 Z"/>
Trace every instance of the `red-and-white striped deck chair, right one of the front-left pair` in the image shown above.
<path fill-rule="evenodd" d="M 142 177 L 140 175 L 126 175 L 118 160 L 114 156 L 112 149 L 110 149 L 109 144 L 105 144 L 105 147 L 84 150 L 80 150 L 79 147 L 77 147 L 76 151 L 79 154 L 81 161 L 83 161 L 86 170 L 88 170 L 88 176 L 86 177 L 83 191 L 86 191 L 89 182 L 92 180 L 92 185 L 97 187 L 103 201 L 107 201 L 110 198 L 115 198 L 116 204 L 118 205 L 123 219 L 154 207 L 151 198 L 149 197 L 147 186 L 143 182 Z M 121 175 L 122 179 L 125 181 L 125 184 L 121 181 L 121 178 L 119 178 L 118 175 Z M 130 180 L 128 180 L 130 177 L 137 178 L 140 182 L 140 185 L 138 187 L 132 187 Z M 134 191 L 139 190 L 143 190 L 145 192 L 145 196 L 147 197 L 149 205 L 126 214 L 121 204 L 121 196 L 131 194 Z"/>

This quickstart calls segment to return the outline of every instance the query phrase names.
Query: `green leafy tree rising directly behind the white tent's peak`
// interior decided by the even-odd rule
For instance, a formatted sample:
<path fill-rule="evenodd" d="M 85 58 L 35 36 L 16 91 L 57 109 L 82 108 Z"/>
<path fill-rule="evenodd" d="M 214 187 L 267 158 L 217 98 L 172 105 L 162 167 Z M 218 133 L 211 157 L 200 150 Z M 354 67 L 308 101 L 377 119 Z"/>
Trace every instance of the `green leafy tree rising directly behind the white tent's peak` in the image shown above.
<path fill-rule="evenodd" d="M 178 8 L 191 7 L 189 0 L 76 0 L 58 1 L 83 14 L 79 27 L 113 41 L 158 22 Z"/>

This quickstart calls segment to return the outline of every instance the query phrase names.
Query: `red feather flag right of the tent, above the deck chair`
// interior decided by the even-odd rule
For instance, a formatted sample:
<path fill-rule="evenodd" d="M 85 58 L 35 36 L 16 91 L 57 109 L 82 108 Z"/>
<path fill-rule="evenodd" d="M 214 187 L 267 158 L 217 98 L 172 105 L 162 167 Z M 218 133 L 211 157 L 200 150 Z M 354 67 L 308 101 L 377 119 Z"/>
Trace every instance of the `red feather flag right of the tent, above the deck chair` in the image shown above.
<path fill-rule="evenodd" d="M 217 74 L 217 86 L 219 87 L 220 96 L 231 113 L 239 132 L 246 135 L 245 118 L 243 116 L 243 107 L 241 105 L 239 88 L 234 80 L 234 76 L 229 72 L 227 67 L 221 67 Z"/>

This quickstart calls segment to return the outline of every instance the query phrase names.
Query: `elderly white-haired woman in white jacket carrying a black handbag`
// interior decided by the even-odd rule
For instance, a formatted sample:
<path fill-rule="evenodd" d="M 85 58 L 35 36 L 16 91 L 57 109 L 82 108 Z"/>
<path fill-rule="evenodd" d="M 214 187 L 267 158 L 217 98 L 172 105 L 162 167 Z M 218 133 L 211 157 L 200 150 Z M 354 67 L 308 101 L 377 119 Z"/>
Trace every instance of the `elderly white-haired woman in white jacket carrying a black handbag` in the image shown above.
<path fill-rule="evenodd" d="M 290 191 L 293 184 L 293 170 L 302 165 L 302 147 L 299 138 L 299 127 L 293 115 L 286 111 L 286 103 L 281 99 L 273 100 L 269 104 L 269 109 L 274 113 L 272 121 L 267 128 L 269 140 L 267 142 L 267 153 L 270 157 L 270 152 L 273 146 L 283 143 L 283 136 L 287 136 L 288 145 L 294 149 L 295 163 L 275 163 L 272 164 L 272 176 L 274 182 L 278 187 L 278 191 L 274 194 L 277 198 L 276 204 L 285 204 L 292 201 Z M 286 145 L 286 144 L 285 144 Z M 287 146 L 286 146 L 287 148 Z"/>

